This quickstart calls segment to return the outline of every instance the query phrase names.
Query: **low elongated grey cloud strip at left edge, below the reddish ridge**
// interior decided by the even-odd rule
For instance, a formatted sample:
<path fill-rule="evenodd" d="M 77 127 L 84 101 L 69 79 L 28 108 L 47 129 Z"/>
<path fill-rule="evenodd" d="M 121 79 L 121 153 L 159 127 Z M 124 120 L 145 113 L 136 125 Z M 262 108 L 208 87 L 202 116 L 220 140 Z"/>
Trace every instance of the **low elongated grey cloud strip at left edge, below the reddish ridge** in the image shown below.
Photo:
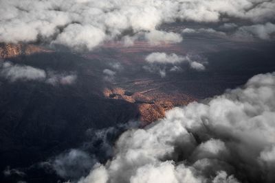
<path fill-rule="evenodd" d="M 12 62 L 0 62 L 0 77 L 4 77 L 10 82 L 16 81 L 39 81 L 52 85 L 71 85 L 76 82 L 75 73 L 56 73 L 54 71 L 45 71 L 33 66 L 22 64 L 12 64 Z"/>

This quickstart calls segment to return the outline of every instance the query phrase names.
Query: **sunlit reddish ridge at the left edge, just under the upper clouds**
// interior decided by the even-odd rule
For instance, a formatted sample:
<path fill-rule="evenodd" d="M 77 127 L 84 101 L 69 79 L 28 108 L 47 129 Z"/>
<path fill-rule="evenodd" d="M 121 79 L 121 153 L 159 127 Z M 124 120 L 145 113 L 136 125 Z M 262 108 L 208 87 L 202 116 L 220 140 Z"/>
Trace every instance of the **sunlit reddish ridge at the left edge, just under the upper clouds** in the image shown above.
<path fill-rule="evenodd" d="M 50 52 L 36 45 L 0 43 L 0 58 L 8 59 L 17 56 L 30 56 L 34 53 Z"/>

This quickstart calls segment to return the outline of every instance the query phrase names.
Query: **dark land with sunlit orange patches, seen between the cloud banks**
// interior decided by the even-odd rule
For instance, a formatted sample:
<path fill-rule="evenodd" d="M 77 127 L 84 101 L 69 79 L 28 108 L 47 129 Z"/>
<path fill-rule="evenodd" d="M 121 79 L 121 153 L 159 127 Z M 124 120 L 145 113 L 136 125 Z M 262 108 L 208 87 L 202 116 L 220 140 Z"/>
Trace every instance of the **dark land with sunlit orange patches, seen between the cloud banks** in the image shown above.
<path fill-rule="evenodd" d="M 112 46 L 79 54 L 49 51 L 36 45 L 1 44 L 1 63 L 40 69 L 46 78 L 12 81 L 0 71 L 0 171 L 9 166 L 10 170 L 27 173 L 28 182 L 57 182 L 62 178 L 54 171 L 38 171 L 34 164 L 67 149 L 82 147 L 86 142 L 89 145 L 85 151 L 101 156 L 104 141 L 96 140 L 90 145 L 94 134 L 89 132 L 109 132 L 115 126 L 138 120 L 144 127 L 164 117 L 165 112 L 175 106 L 214 97 L 226 88 L 240 86 L 252 75 L 274 70 L 274 57 L 264 57 L 272 53 L 272 45 L 259 53 L 251 50 L 208 53 L 207 71 L 185 70 L 162 78 L 144 71 L 143 66 L 148 53 L 163 48 L 140 47 L 117 51 Z M 171 47 L 173 52 L 177 49 L 179 47 Z M 251 58 L 261 58 L 265 65 L 250 62 Z M 230 60 L 236 62 L 232 64 Z M 111 75 L 104 73 L 106 69 Z M 76 82 L 49 84 L 47 77 L 53 73 L 56 77 L 73 73 Z M 107 133 L 106 136 L 114 143 L 116 135 Z M 1 176 L 0 182 L 19 181 Z"/>

